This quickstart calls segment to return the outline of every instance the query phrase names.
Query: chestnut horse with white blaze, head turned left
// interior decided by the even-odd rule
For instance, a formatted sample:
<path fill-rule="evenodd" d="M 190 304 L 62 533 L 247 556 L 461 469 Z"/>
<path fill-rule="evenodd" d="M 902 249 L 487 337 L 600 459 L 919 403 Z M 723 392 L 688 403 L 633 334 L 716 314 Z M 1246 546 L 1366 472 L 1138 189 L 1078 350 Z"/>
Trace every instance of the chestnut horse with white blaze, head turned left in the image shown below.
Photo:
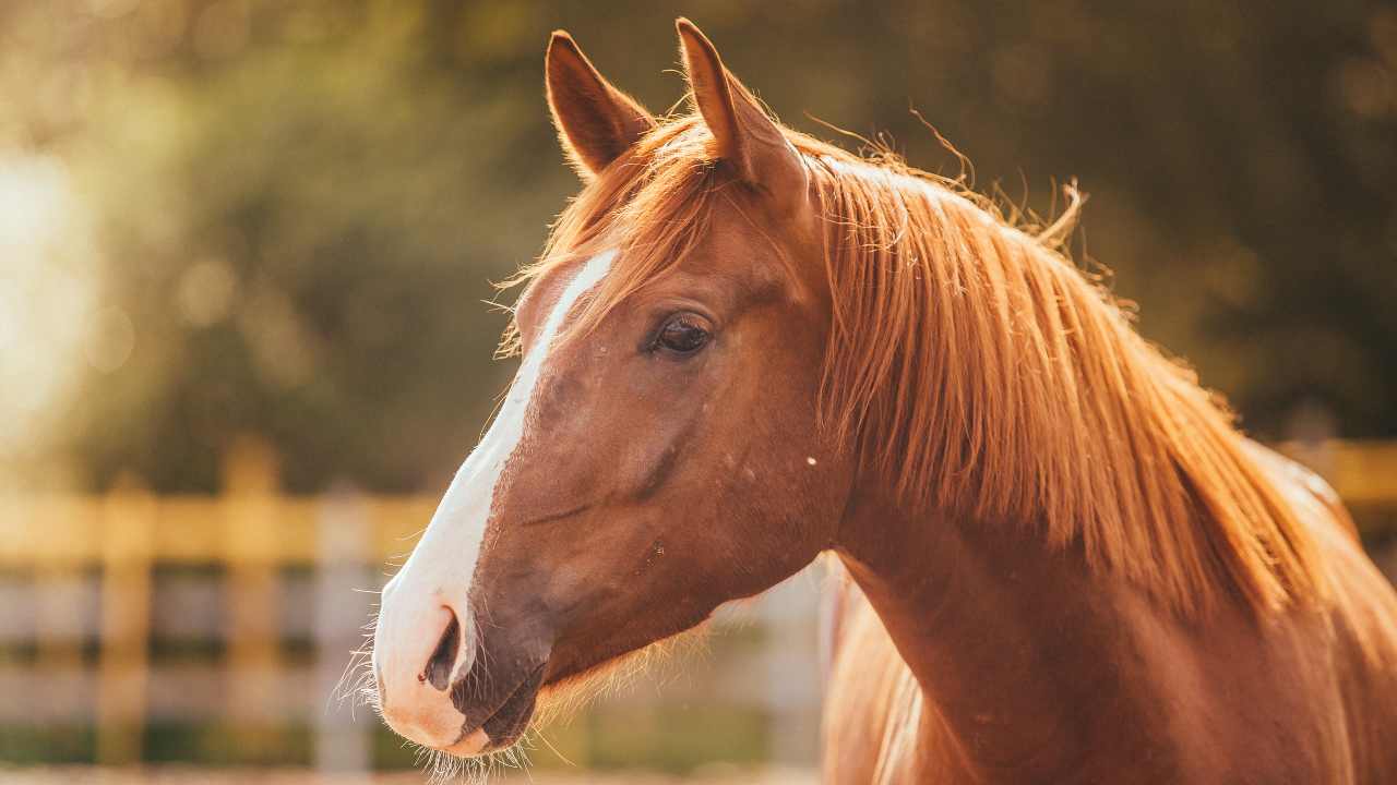
<path fill-rule="evenodd" d="M 584 186 L 383 589 L 387 724 L 506 750 L 826 557 L 827 782 L 1397 782 L 1397 594 L 1067 257 L 1080 200 L 1035 229 L 787 129 L 678 34 L 668 117 L 549 42 Z"/>

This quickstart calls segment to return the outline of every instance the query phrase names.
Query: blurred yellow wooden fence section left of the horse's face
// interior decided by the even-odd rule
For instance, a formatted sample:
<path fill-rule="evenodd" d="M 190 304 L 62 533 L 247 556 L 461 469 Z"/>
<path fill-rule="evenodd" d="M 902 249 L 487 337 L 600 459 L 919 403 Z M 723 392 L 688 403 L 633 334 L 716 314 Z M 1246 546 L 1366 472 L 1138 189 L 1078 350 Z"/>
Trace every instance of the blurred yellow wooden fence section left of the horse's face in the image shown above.
<path fill-rule="evenodd" d="M 316 682 L 328 696 L 349 652 L 363 643 L 372 592 L 381 587 L 376 574 L 381 570 L 369 566 L 401 563 L 436 506 L 423 496 L 367 497 L 351 490 L 286 497 L 277 485 L 271 453 L 244 441 L 228 457 L 225 492 L 218 497 L 156 497 L 127 479 L 101 497 L 3 500 L 0 568 L 28 573 L 35 582 L 41 676 L 82 670 L 88 623 L 75 617 L 81 603 L 64 587 L 94 570 L 99 575 L 92 721 L 101 763 L 141 760 L 155 566 L 222 568 L 225 645 L 218 668 L 226 686 L 218 708 L 233 722 L 256 722 L 263 707 L 285 704 L 277 694 L 284 684 L 281 570 L 310 567 L 319 578 L 316 594 L 323 596 L 313 634 L 326 662 Z M 320 731 L 334 735 L 334 728 Z"/>

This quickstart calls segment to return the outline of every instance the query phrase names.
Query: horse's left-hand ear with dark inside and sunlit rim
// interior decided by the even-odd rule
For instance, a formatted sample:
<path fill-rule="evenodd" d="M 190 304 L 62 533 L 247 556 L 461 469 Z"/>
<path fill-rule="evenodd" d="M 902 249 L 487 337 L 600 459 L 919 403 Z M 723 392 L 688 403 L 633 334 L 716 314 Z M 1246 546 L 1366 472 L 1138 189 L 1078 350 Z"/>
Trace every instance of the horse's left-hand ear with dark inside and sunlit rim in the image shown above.
<path fill-rule="evenodd" d="M 553 31 L 543 70 L 557 138 L 584 180 L 620 158 L 655 127 L 650 112 L 612 87 L 566 31 Z"/>

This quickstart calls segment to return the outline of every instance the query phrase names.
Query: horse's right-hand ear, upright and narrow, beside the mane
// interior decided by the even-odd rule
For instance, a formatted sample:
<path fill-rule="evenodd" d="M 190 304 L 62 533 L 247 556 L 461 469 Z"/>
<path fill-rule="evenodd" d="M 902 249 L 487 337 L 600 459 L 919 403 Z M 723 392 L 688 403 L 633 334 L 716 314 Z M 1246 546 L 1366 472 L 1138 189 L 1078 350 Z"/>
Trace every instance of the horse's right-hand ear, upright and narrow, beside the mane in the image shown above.
<path fill-rule="evenodd" d="M 718 156 L 736 169 L 738 176 L 771 194 L 805 189 L 805 168 L 781 129 L 766 113 L 754 95 L 733 77 L 718 57 L 712 42 L 680 17 L 679 49 L 694 103 L 712 131 Z"/>

